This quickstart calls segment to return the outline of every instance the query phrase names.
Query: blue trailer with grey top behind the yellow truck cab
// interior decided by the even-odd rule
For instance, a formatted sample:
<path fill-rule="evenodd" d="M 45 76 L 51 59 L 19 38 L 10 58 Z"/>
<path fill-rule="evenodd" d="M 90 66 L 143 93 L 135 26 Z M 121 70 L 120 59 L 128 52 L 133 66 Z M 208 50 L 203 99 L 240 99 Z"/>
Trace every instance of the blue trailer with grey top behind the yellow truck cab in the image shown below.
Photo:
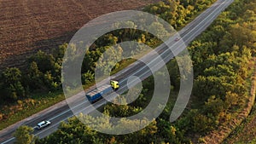
<path fill-rule="evenodd" d="M 94 103 L 100 99 L 102 99 L 102 95 L 108 95 L 113 92 L 113 88 L 109 84 L 102 85 L 101 87 L 90 91 L 86 97 L 90 103 Z"/>

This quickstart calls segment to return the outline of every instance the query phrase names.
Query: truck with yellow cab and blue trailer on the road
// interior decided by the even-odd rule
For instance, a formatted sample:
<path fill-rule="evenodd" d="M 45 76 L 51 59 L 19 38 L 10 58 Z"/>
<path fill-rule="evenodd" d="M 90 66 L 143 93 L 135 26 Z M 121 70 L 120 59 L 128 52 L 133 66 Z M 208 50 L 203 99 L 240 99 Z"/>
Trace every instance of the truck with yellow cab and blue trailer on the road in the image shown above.
<path fill-rule="evenodd" d="M 117 89 L 119 89 L 119 82 L 116 80 L 110 80 L 110 84 L 104 84 L 99 88 L 90 91 L 86 94 L 86 97 L 90 103 L 95 103 L 102 99 L 102 95 L 108 95 Z"/>

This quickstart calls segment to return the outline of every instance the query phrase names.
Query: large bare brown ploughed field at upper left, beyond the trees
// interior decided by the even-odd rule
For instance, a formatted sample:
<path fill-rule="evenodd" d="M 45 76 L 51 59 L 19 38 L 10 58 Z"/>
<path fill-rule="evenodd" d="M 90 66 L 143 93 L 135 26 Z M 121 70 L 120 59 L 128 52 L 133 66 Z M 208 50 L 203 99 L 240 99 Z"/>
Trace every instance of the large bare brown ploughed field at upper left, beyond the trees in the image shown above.
<path fill-rule="evenodd" d="M 160 0 L 0 0 L 0 70 L 68 42 L 86 22 Z"/>

